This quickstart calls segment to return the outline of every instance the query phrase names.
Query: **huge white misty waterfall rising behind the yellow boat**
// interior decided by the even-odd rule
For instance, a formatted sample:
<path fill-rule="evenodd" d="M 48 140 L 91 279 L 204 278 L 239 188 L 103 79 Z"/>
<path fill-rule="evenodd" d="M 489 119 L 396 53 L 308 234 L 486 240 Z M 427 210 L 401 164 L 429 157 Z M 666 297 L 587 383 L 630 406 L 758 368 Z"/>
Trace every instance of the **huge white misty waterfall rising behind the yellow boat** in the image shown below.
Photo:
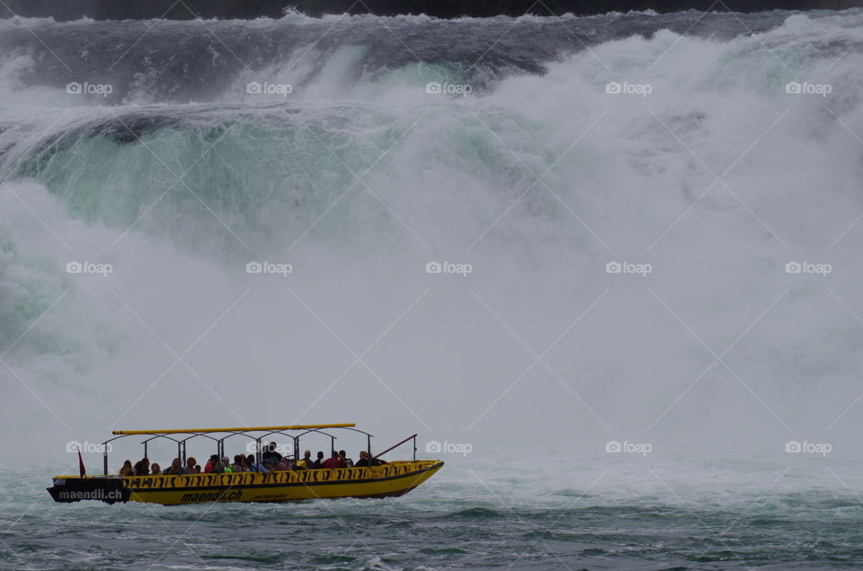
<path fill-rule="evenodd" d="M 860 11 L 2 21 L 0 450 L 357 422 L 470 444 L 448 506 L 601 478 L 595 504 L 709 510 L 789 466 L 776 494 L 851 505 L 861 34 Z"/>

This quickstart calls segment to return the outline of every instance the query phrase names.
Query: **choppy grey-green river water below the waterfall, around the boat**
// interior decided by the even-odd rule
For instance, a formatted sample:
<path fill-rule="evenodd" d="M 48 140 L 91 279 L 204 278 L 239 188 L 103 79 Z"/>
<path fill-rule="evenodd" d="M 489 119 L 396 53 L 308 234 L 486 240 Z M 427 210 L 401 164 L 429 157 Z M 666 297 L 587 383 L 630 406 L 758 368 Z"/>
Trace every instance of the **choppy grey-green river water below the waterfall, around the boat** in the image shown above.
<path fill-rule="evenodd" d="M 836 489 L 837 478 L 859 485 L 852 470 L 856 463 L 819 461 L 590 460 L 531 470 L 459 462 L 401 498 L 184 506 L 55 505 L 44 490 L 49 470 L 14 470 L 0 488 L 8 546 L 0 561 L 10 569 L 860 567 L 859 497 Z"/>

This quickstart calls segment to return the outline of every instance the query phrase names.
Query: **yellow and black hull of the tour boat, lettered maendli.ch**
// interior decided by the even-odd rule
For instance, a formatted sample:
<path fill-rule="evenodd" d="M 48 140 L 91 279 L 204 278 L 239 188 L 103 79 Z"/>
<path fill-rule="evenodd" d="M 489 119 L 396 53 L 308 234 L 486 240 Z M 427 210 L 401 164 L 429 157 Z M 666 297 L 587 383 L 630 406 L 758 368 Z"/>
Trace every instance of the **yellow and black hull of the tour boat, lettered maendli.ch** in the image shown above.
<path fill-rule="evenodd" d="M 373 468 L 190 474 L 183 476 L 58 476 L 48 488 L 58 502 L 85 499 L 162 505 L 203 502 L 291 502 L 316 498 L 402 496 L 440 470 L 442 461 L 393 462 Z"/>

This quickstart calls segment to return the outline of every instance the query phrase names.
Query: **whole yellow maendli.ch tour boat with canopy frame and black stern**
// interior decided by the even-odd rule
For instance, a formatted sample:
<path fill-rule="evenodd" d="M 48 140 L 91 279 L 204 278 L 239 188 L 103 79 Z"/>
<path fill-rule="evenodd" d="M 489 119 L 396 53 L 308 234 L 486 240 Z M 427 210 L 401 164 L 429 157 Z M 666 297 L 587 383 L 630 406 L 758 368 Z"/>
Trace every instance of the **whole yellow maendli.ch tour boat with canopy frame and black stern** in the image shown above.
<path fill-rule="evenodd" d="M 78 502 L 85 499 L 115 502 L 148 502 L 162 505 L 199 504 L 202 502 L 289 502 L 316 498 L 402 496 L 432 477 L 443 466 L 440 460 L 416 460 L 416 435 L 408 436 L 376 456 L 371 454 L 371 435 L 354 424 L 303 426 L 246 426 L 239 428 L 200 428 L 196 430 L 115 430 L 116 435 L 103 443 L 104 474 L 86 476 L 84 464 L 78 476 L 56 476 L 49 494 L 58 502 Z M 293 441 L 293 458 L 299 461 L 299 438 L 309 433 L 327 435 L 331 450 L 337 436 L 330 429 L 351 430 L 367 437 L 368 457 L 375 459 L 401 444 L 413 441 L 413 461 L 392 461 L 380 465 L 317 470 L 274 470 L 232 473 L 192 473 L 178 475 L 120 476 L 108 473 L 108 451 L 111 441 L 125 436 L 147 436 L 147 444 L 157 438 L 177 444 L 177 457 L 186 465 L 186 443 L 192 438 L 206 437 L 215 441 L 218 458 L 225 456 L 225 440 L 245 435 L 254 438 L 255 458 L 261 462 L 262 440 L 272 435 L 285 435 Z"/>

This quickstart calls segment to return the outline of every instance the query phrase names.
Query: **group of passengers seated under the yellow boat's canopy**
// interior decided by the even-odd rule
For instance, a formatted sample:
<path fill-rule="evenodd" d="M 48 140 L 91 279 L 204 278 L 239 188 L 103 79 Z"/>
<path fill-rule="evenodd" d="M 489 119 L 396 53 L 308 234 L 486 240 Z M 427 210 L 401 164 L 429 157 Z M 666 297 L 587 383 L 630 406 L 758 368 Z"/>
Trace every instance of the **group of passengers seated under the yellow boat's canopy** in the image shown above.
<path fill-rule="evenodd" d="M 209 457 L 209 461 L 201 470 L 198 461 L 194 458 L 188 458 L 185 466 L 179 458 L 174 458 L 171 465 L 162 470 L 161 467 L 153 462 L 150 464 L 149 459 L 143 458 L 132 466 L 132 462 L 127 460 L 123 463 L 120 469 L 120 476 L 175 476 L 179 474 L 229 474 L 233 472 L 273 472 L 285 470 L 323 470 L 335 468 L 352 468 L 365 466 L 380 466 L 386 464 L 386 461 L 378 458 L 369 460 L 369 452 L 360 451 L 360 460 L 354 462 L 348 458 L 343 450 L 339 452 L 333 451 L 330 458 L 324 459 L 324 452 L 317 452 L 317 459 L 312 460 L 312 452 L 307 450 L 302 460 L 294 461 L 293 458 L 282 456 L 276 452 L 276 443 L 271 442 L 264 452 L 261 454 L 261 461 L 258 462 L 254 454 L 236 454 L 234 461 L 231 462 L 227 456 L 222 458 L 218 454 L 213 454 Z"/>

